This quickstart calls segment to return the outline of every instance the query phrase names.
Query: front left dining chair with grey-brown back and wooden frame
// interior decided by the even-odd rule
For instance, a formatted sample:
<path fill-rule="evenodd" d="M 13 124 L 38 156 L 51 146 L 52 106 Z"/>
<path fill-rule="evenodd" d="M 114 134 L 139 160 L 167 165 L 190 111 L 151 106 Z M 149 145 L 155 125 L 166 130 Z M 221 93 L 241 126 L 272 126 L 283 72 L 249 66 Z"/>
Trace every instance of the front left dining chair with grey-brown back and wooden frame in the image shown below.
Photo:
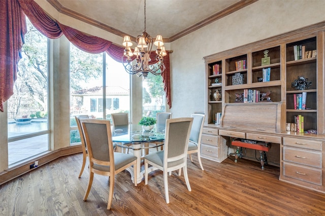
<path fill-rule="evenodd" d="M 109 176 L 109 196 L 107 209 L 111 208 L 115 175 L 133 165 L 137 170 L 137 157 L 131 154 L 114 152 L 111 123 L 108 120 L 81 119 L 84 129 L 86 145 L 89 157 L 89 182 L 83 198 L 87 200 L 93 176 L 95 174 Z M 137 186 L 137 172 L 134 172 L 134 185 Z"/>

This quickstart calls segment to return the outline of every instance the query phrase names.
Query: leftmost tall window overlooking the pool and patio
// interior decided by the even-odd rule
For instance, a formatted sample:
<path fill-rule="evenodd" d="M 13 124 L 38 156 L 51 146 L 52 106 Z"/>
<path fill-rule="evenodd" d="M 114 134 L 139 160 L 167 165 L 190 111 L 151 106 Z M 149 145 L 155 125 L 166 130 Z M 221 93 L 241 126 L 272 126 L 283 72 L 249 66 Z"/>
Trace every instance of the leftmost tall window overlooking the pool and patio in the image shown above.
<path fill-rule="evenodd" d="M 49 149 L 48 39 L 27 19 L 14 94 L 8 100 L 8 163 L 13 166 Z"/>

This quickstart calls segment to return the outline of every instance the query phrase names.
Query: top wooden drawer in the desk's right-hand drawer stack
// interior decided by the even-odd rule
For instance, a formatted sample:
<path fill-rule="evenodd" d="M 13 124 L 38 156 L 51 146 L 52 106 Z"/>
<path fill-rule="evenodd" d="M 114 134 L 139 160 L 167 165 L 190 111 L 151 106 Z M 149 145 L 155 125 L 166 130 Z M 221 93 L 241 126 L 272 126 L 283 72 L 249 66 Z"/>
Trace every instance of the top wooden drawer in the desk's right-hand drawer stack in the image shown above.
<path fill-rule="evenodd" d="M 311 139 L 283 137 L 283 146 L 292 146 L 292 147 L 299 147 L 303 149 L 322 151 L 322 141 L 311 140 Z"/>

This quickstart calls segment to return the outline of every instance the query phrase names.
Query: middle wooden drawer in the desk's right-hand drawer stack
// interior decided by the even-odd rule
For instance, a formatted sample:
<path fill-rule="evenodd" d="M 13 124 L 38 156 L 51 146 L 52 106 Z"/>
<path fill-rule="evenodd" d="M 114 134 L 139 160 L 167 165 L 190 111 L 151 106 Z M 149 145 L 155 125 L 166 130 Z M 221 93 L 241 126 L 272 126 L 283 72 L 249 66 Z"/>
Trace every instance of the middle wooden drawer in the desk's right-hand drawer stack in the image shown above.
<path fill-rule="evenodd" d="M 283 147 L 283 160 L 321 168 L 321 152 Z"/>

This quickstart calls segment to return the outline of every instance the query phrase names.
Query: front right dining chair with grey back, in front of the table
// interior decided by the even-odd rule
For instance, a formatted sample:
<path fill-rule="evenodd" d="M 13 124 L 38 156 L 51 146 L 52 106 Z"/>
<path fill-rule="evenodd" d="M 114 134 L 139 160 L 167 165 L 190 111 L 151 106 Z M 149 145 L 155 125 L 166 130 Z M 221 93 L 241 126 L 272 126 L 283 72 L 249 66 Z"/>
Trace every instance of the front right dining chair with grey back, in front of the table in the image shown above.
<path fill-rule="evenodd" d="M 165 147 L 144 157 L 145 185 L 148 184 L 148 165 L 158 168 L 164 174 L 166 203 L 169 203 L 168 173 L 183 168 L 185 183 L 191 191 L 187 176 L 187 148 L 193 118 L 175 118 L 166 121 Z M 151 167 L 150 167 L 151 168 Z"/>

